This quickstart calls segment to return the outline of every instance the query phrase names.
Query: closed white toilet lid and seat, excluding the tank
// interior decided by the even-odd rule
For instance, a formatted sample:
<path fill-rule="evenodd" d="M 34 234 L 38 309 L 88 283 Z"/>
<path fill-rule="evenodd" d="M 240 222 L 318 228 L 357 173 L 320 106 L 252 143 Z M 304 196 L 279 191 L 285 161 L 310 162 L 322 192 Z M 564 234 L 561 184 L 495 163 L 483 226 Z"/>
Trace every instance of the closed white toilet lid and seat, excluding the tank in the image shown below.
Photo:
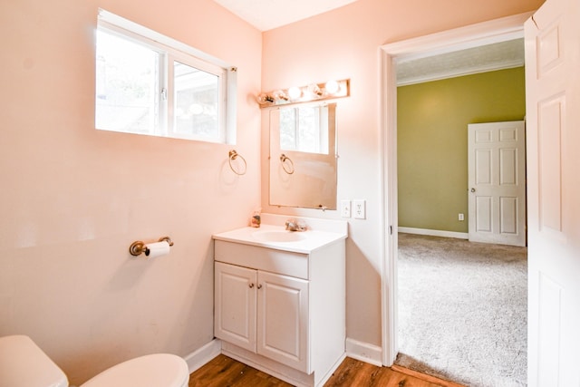
<path fill-rule="evenodd" d="M 140 356 L 99 373 L 81 387 L 187 387 L 188 364 L 175 354 Z"/>

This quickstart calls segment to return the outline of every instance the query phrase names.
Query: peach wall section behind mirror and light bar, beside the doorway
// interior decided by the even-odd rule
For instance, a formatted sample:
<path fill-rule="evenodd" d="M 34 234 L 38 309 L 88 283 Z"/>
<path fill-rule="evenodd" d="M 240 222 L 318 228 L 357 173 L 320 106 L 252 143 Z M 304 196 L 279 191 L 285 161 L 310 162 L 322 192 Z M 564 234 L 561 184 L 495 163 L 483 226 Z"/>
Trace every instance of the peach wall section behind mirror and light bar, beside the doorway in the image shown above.
<path fill-rule="evenodd" d="M 364 198 L 367 218 L 349 219 L 347 336 L 381 345 L 382 160 L 379 47 L 411 37 L 536 10 L 543 0 L 358 0 L 264 34 L 263 90 L 351 78 L 338 101 L 338 199 Z M 338 211 L 267 205 L 267 121 L 263 115 L 262 207 L 339 218 Z"/>

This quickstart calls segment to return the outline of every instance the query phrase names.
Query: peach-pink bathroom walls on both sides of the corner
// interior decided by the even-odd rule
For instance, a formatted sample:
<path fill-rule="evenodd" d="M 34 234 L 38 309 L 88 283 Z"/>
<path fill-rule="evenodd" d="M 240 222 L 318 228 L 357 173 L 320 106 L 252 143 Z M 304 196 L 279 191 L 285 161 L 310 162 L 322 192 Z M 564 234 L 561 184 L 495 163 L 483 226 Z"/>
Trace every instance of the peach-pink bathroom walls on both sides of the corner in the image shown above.
<path fill-rule="evenodd" d="M 368 218 L 350 224 L 348 335 L 379 345 L 378 47 L 541 3 L 359 0 L 260 34 L 211 0 L 0 2 L 0 335 L 32 336 L 73 384 L 133 356 L 208 343 L 212 233 L 245 225 L 260 194 L 272 212 L 338 217 L 268 208 L 267 121 L 260 132 L 254 95 L 351 78 L 337 113 L 338 196 L 366 198 Z M 247 175 L 228 169 L 229 145 L 94 130 L 98 7 L 237 65 L 235 148 Z M 132 241 L 164 235 L 169 256 L 129 256 Z"/>

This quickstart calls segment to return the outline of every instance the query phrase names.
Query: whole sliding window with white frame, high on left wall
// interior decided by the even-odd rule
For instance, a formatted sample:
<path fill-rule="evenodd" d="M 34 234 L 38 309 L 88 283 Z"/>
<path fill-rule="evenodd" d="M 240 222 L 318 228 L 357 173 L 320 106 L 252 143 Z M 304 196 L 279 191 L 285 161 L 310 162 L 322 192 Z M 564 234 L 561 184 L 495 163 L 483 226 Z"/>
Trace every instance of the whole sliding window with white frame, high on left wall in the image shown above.
<path fill-rule="evenodd" d="M 97 129 L 235 142 L 234 67 L 100 10 L 95 70 Z"/>

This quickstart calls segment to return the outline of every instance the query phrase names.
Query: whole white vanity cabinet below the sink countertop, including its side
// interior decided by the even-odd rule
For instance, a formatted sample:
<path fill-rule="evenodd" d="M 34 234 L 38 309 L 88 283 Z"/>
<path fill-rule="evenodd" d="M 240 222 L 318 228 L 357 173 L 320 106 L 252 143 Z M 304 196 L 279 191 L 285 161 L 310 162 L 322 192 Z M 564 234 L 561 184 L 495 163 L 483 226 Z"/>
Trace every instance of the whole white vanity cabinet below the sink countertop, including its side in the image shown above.
<path fill-rule="evenodd" d="M 344 237 L 307 252 L 215 238 L 222 353 L 294 385 L 322 385 L 344 358 Z"/>

